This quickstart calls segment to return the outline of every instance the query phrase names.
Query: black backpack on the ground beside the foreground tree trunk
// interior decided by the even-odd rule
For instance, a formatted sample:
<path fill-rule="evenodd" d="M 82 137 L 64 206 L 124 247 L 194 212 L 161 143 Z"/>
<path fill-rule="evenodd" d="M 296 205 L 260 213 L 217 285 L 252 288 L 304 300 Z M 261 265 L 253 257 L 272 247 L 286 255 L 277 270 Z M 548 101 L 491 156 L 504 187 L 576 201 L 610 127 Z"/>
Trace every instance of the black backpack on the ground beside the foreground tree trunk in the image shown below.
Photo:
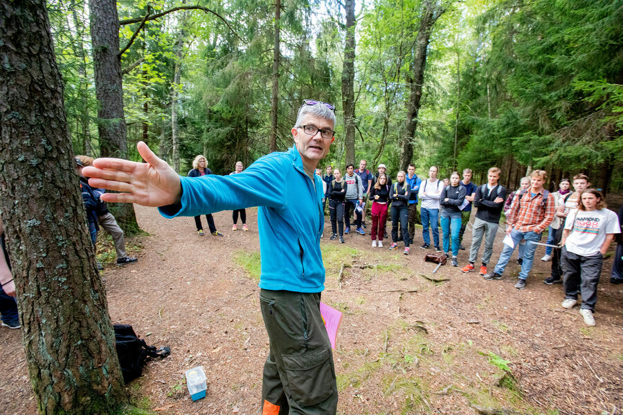
<path fill-rule="evenodd" d="M 115 347 L 125 383 L 143 374 L 147 358 L 165 358 L 171 353 L 171 349 L 166 346 L 157 350 L 154 346 L 147 346 L 145 340 L 139 339 L 129 324 L 114 324 L 113 328 Z"/>

